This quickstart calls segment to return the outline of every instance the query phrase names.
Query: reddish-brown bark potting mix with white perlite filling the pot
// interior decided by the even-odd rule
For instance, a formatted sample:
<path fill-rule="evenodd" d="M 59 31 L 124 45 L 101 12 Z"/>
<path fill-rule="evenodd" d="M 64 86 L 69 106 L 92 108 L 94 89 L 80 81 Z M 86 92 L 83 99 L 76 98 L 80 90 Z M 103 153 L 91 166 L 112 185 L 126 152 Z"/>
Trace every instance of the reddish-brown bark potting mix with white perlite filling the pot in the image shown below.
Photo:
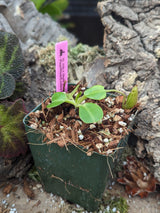
<path fill-rule="evenodd" d="M 70 87 L 73 90 L 74 86 Z M 84 87 L 79 90 L 84 91 Z M 29 125 L 33 129 L 39 129 L 45 134 L 44 142 L 57 143 L 60 147 L 69 144 L 80 145 L 87 150 L 87 155 L 94 151 L 99 154 L 109 155 L 117 149 L 119 141 L 131 130 L 129 124 L 134 119 L 137 106 L 132 109 L 122 109 L 123 98 L 107 97 L 96 102 L 102 109 L 104 117 L 101 122 L 94 124 L 83 123 L 77 109 L 68 103 L 55 108 L 46 108 L 51 102 L 48 98 L 42 103 L 42 109 L 31 112 Z"/>

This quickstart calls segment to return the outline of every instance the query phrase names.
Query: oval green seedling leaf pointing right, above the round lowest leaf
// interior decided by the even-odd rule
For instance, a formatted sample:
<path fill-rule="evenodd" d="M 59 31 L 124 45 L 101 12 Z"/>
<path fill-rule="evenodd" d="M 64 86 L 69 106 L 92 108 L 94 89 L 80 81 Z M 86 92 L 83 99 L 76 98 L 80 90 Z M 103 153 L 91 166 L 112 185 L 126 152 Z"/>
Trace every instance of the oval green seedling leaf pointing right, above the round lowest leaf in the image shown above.
<path fill-rule="evenodd" d="M 106 90 L 101 85 L 95 85 L 84 92 L 87 98 L 101 100 L 106 97 Z"/>

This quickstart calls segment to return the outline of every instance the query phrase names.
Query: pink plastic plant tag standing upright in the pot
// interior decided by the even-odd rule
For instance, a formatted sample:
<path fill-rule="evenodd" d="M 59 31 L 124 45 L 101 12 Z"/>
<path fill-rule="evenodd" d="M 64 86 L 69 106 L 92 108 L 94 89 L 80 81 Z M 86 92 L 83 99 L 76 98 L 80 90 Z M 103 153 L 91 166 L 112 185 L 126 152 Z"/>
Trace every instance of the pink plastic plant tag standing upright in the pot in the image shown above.
<path fill-rule="evenodd" d="M 68 41 L 55 45 L 56 92 L 68 91 Z M 65 85 L 65 86 L 64 86 Z"/>

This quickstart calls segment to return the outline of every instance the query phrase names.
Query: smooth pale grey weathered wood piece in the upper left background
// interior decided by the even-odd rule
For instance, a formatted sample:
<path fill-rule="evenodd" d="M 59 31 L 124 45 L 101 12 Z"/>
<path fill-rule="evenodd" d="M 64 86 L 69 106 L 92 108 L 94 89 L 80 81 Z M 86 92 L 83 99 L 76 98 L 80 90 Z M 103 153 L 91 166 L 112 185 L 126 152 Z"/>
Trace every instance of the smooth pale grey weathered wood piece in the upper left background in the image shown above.
<path fill-rule="evenodd" d="M 48 42 L 66 37 L 72 44 L 76 38 L 62 28 L 48 14 L 41 14 L 29 0 L 1 0 L 1 30 L 14 32 L 22 43 L 22 50 L 27 51 L 37 44 L 46 46 Z"/>

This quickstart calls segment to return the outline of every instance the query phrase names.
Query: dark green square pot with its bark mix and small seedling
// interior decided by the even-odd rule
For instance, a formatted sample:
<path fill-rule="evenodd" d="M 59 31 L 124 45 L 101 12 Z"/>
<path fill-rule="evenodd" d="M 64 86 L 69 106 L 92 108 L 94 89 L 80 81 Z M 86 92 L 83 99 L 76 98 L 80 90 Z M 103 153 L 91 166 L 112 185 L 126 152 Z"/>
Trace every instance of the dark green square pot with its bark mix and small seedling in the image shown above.
<path fill-rule="evenodd" d="M 127 98 L 108 92 L 119 91 L 70 85 L 67 93 L 54 93 L 24 118 L 45 190 L 89 211 L 99 206 L 137 110 L 136 86 Z"/>

